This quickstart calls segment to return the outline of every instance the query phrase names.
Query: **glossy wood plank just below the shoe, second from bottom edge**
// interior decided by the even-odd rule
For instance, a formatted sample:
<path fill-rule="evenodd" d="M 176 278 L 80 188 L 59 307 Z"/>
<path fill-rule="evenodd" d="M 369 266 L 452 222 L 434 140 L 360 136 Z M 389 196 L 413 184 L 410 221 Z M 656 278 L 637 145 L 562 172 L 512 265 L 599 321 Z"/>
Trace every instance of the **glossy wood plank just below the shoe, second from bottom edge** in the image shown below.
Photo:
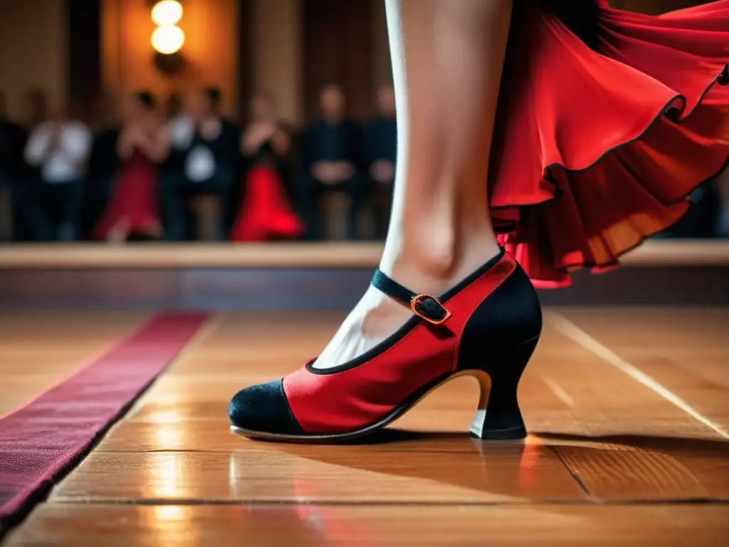
<path fill-rule="evenodd" d="M 220 424 L 219 427 L 223 427 Z M 464 435 L 400 449 L 281 445 L 232 452 L 94 452 L 54 503 L 179 500 L 297 503 L 517 503 L 585 494 L 547 447 L 481 449 Z M 261 445 L 263 446 L 263 445 Z M 109 470 L 119 470 L 109 476 Z"/>

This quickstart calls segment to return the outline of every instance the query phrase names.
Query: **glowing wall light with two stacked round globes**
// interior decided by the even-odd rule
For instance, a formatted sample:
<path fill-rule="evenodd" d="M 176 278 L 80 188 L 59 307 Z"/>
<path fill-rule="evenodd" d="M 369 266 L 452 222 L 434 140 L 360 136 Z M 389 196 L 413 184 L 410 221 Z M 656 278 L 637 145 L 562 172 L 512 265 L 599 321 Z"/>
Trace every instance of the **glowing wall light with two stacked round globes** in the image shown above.
<path fill-rule="evenodd" d="M 178 0 L 161 0 L 152 6 L 152 20 L 157 25 L 152 32 L 155 65 L 166 73 L 184 69 L 184 58 L 180 53 L 184 45 L 184 32 L 177 26 L 182 14 L 182 4 Z"/>

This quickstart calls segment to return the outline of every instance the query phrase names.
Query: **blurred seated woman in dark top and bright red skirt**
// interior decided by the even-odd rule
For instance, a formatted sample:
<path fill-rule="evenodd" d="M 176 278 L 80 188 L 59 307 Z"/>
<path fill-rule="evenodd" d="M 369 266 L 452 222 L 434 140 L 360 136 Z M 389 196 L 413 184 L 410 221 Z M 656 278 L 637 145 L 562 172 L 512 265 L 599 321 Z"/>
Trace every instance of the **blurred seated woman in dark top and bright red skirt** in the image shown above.
<path fill-rule="evenodd" d="M 233 241 L 265 241 L 296 238 L 303 224 L 292 211 L 284 188 L 284 165 L 291 138 L 276 117 L 273 101 L 255 96 L 251 123 L 241 136 L 246 160 L 243 201 L 230 238 Z"/>

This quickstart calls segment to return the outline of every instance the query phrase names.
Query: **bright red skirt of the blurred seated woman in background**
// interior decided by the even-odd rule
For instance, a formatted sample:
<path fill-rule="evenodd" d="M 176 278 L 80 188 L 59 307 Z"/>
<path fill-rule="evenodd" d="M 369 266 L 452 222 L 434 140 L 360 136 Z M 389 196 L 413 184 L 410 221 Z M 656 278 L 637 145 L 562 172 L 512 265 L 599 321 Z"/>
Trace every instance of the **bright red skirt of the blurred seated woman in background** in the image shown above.
<path fill-rule="evenodd" d="M 246 192 L 230 238 L 266 241 L 301 236 L 303 223 L 289 206 L 276 169 L 255 166 L 246 176 Z"/>

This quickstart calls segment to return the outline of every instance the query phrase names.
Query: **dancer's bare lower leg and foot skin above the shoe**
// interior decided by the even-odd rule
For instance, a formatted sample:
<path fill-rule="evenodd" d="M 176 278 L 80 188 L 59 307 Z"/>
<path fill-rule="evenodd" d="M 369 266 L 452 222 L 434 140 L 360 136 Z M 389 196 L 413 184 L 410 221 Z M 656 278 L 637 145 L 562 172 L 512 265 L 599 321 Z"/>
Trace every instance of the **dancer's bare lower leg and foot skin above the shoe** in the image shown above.
<path fill-rule="evenodd" d="M 488 210 L 511 0 L 386 0 L 398 158 L 381 270 L 439 295 L 499 252 Z M 354 359 L 412 311 L 370 287 L 314 366 Z"/>

